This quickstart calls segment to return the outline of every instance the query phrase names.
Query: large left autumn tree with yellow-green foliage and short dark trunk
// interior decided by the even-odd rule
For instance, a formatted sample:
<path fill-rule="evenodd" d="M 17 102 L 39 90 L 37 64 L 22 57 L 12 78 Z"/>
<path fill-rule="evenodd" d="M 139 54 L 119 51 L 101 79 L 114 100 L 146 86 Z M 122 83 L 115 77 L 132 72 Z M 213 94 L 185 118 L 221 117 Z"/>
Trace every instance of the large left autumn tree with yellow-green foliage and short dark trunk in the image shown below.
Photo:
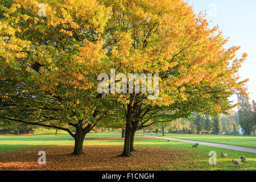
<path fill-rule="evenodd" d="M 95 0 L 0 2 L 0 118 L 67 131 L 72 154 L 83 154 L 112 105 L 97 92 L 109 10 Z"/>

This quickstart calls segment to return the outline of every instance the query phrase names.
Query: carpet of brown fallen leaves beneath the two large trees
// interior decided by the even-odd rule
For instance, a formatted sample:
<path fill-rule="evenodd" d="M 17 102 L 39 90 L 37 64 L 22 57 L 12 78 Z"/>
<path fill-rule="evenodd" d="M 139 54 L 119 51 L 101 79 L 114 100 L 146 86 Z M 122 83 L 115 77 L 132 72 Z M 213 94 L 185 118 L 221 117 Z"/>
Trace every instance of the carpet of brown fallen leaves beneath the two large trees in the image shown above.
<path fill-rule="evenodd" d="M 85 155 L 72 156 L 72 146 L 30 148 L 0 153 L 0 170 L 138 170 L 153 169 L 181 162 L 179 150 L 160 147 L 136 147 L 130 158 L 119 157 L 122 146 L 85 146 Z M 38 164 L 38 152 L 46 151 L 46 165 Z"/>

